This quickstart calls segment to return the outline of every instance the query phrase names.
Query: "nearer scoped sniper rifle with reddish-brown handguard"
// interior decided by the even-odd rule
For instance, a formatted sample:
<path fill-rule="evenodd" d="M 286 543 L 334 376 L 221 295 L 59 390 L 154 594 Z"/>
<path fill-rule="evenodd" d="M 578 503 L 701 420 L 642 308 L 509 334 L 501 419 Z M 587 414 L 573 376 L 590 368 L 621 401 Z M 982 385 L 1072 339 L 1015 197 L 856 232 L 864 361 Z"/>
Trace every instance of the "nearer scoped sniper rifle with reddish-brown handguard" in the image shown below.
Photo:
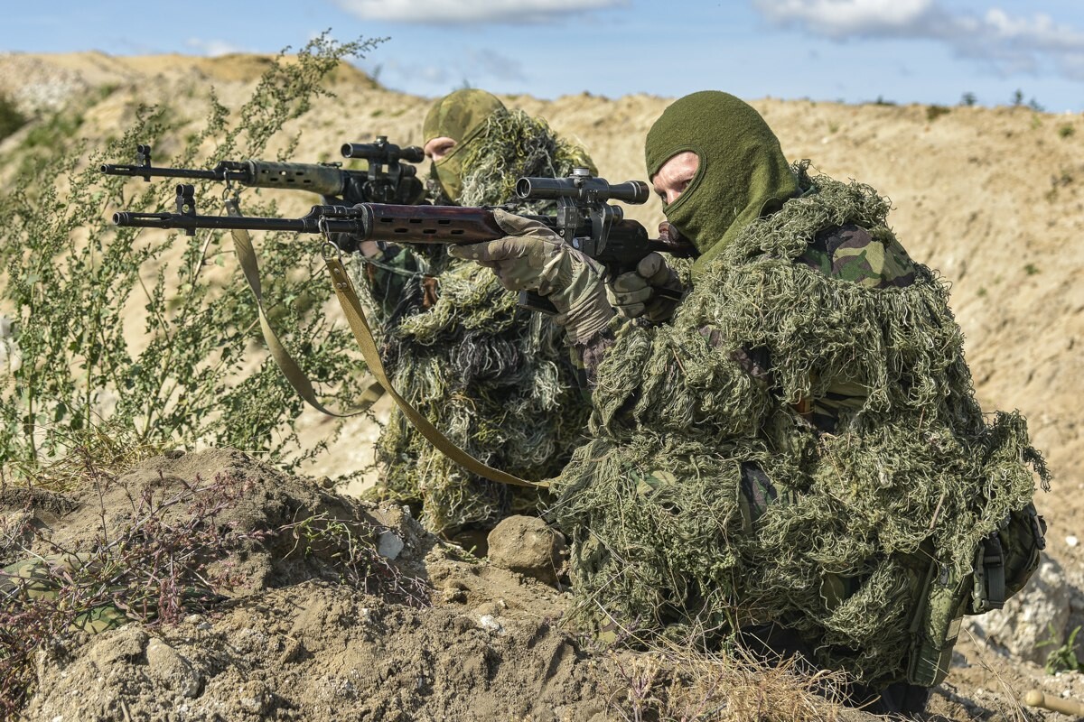
<path fill-rule="evenodd" d="M 610 184 L 578 168 L 567 178 L 521 178 L 516 195 L 522 200 L 556 200 L 556 215 L 525 215 L 542 222 L 565 242 L 606 266 L 610 277 L 632 271 L 648 253 L 661 251 L 681 258 L 694 254 L 687 241 L 667 235 L 648 238 L 636 221 L 624 218 L 619 206 L 609 200 L 643 204 L 649 197 L 641 181 Z M 114 213 L 118 226 L 142 228 L 180 228 L 193 235 L 197 228 L 291 231 L 330 236 L 341 233 L 354 242 L 388 240 L 404 244 L 477 244 L 503 238 L 506 234 L 493 219 L 492 208 L 460 206 L 402 206 L 360 202 L 353 206 L 313 206 L 301 218 L 258 218 L 199 215 L 194 189 L 177 186 L 176 213 Z M 352 249 L 345 249 L 352 250 Z M 660 296 L 680 299 L 680 291 L 657 289 Z M 537 311 L 553 313 L 553 305 L 534 293 L 521 293 L 520 303 Z"/>

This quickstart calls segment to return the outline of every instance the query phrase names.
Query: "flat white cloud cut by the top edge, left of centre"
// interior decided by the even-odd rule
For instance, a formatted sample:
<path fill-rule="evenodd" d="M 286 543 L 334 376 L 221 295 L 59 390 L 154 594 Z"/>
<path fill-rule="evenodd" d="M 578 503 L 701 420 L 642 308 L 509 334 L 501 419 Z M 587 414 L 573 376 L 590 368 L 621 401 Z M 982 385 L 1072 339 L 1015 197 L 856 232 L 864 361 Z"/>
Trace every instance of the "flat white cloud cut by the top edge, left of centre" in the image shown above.
<path fill-rule="evenodd" d="M 363 19 L 400 23 L 541 23 L 627 5 L 629 0 L 336 0 Z"/>

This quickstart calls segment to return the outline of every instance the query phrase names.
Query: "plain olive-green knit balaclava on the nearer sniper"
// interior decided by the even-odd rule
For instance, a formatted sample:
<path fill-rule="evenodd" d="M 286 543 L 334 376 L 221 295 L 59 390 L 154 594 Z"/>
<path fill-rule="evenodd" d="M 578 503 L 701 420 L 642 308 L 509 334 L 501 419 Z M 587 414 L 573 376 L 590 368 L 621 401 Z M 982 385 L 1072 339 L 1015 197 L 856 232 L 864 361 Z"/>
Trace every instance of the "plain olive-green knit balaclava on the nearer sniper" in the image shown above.
<path fill-rule="evenodd" d="M 671 104 L 647 132 L 647 176 L 679 153 L 700 165 L 692 182 L 662 212 L 700 252 L 697 275 L 749 223 L 798 192 L 779 140 L 748 103 L 701 91 Z"/>

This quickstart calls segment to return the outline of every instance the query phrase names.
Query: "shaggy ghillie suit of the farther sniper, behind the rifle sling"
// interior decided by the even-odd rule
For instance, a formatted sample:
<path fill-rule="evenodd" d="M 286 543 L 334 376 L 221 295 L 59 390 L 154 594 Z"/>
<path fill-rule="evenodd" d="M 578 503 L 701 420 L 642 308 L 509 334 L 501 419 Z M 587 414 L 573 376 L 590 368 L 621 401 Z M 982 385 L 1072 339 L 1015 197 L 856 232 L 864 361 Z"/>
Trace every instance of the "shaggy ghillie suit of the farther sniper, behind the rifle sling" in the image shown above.
<path fill-rule="evenodd" d="M 455 176 L 462 179 L 462 193 L 452 188 L 460 202 L 507 201 L 522 175 L 593 170 L 584 152 L 557 139 L 545 121 L 490 107 L 488 93 L 479 93 L 470 91 L 466 97 L 481 103 L 485 113 L 474 114 L 476 128 L 461 129 L 452 155 Z M 438 107 L 454 110 L 462 95 L 453 94 Z M 449 134 L 440 123 L 429 124 L 427 120 L 427 139 Z M 447 171 L 447 163 L 442 167 Z M 545 210 L 539 205 L 518 209 Z M 383 321 L 383 355 L 396 389 L 475 458 L 525 478 L 559 472 L 583 442 L 590 412 L 560 328 L 518 307 L 517 294 L 501 287 L 488 268 L 453 259 L 442 247 L 389 247 L 367 266 L 362 274 L 369 283 L 362 286 Z M 540 501 L 538 491 L 512 489 L 463 471 L 398 409 L 377 442 L 377 493 L 421 502 L 422 522 L 435 531 L 488 528 L 513 511 L 537 509 Z"/>

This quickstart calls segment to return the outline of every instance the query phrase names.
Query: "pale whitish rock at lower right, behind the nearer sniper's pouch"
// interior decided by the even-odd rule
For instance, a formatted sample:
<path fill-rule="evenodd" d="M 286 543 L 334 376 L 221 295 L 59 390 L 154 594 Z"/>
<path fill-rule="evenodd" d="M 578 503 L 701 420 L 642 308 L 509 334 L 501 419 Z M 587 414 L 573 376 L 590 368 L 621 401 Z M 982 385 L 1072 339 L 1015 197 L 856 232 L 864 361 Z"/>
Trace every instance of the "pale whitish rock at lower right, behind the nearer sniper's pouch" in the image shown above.
<path fill-rule="evenodd" d="M 1028 585 L 1004 608 L 968 617 L 968 626 L 977 638 L 995 648 L 1043 665 L 1055 646 L 1038 646 L 1040 643 L 1051 636 L 1058 644 L 1066 639 L 1069 595 L 1061 565 L 1044 555 Z"/>

